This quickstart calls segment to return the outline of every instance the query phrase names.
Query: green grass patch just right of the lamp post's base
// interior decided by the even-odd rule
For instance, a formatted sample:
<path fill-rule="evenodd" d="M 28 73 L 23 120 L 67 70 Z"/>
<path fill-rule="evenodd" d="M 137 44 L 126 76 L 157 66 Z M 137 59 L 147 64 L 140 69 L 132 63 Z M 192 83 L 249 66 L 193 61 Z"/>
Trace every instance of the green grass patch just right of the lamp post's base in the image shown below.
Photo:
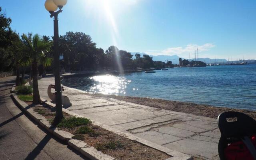
<path fill-rule="evenodd" d="M 74 128 L 78 126 L 91 124 L 91 121 L 87 118 L 81 117 L 69 117 L 63 118 L 60 123 L 57 125 L 59 128 Z"/>

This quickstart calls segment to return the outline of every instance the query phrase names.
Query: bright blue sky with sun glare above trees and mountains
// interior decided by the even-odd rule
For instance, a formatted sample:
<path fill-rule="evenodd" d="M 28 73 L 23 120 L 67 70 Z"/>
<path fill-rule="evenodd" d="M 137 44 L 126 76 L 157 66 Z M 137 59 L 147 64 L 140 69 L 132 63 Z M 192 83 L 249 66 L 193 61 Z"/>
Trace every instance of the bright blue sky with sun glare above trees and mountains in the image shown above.
<path fill-rule="evenodd" d="M 12 29 L 53 35 L 44 0 L 0 0 Z M 256 59 L 255 0 L 68 0 L 59 32 L 84 32 L 104 50 L 189 58 Z"/>

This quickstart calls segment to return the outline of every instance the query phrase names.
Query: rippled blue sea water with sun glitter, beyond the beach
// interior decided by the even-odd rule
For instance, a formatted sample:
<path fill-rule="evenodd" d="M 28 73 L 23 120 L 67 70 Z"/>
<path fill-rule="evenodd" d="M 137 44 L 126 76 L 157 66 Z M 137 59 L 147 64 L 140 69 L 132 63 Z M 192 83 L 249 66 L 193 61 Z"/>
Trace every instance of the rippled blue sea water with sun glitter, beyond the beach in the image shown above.
<path fill-rule="evenodd" d="M 256 64 L 170 68 L 65 78 L 62 84 L 91 93 L 161 98 L 256 110 Z"/>

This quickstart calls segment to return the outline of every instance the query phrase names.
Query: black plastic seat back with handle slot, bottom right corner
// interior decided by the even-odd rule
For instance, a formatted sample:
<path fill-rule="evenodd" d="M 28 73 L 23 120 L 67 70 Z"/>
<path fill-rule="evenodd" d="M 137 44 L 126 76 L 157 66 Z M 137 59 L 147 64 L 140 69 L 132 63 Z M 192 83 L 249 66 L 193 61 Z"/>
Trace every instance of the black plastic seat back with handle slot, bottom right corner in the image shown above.
<path fill-rule="evenodd" d="M 218 126 L 221 137 L 218 144 L 220 160 L 226 160 L 224 150 L 233 142 L 242 140 L 256 160 L 256 149 L 250 141 L 250 136 L 256 134 L 256 121 L 240 112 L 224 112 L 218 116 Z"/>

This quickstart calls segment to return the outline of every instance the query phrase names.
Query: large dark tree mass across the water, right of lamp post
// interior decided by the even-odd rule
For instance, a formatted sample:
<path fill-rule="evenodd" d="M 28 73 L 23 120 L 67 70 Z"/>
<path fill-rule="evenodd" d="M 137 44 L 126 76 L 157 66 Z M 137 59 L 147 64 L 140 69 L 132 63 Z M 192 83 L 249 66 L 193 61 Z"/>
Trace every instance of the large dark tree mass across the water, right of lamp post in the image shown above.
<path fill-rule="evenodd" d="M 135 68 L 154 67 L 152 57 L 133 55 L 116 46 L 110 46 L 105 52 L 97 48 L 92 38 L 82 32 L 67 32 L 60 36 L 60 50 L 63 55 L 62 65 L 65 70 L 134 70 Z"/>

